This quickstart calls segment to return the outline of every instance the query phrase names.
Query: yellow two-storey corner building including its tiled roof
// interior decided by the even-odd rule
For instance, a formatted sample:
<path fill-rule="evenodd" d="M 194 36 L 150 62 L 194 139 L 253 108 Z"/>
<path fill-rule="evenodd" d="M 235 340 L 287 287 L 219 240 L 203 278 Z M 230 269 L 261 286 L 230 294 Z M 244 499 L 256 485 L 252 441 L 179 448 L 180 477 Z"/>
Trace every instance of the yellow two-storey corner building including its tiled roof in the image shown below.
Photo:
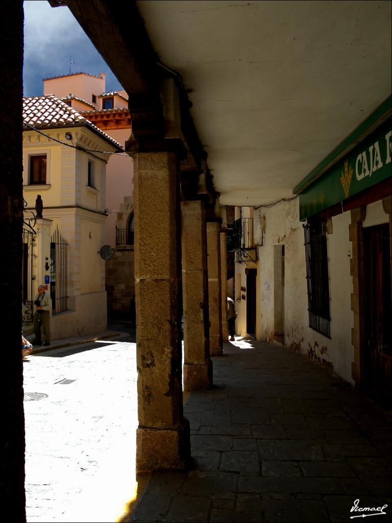
<path fill-rule="evenodd" d="M 52 95 L 25 98 L 24 122 L 25 221 L 37 216 L 24 251 L 25 305 L 45 285 L 54 339 L 105 331 L 106 164 L 121 146 Z"/>

